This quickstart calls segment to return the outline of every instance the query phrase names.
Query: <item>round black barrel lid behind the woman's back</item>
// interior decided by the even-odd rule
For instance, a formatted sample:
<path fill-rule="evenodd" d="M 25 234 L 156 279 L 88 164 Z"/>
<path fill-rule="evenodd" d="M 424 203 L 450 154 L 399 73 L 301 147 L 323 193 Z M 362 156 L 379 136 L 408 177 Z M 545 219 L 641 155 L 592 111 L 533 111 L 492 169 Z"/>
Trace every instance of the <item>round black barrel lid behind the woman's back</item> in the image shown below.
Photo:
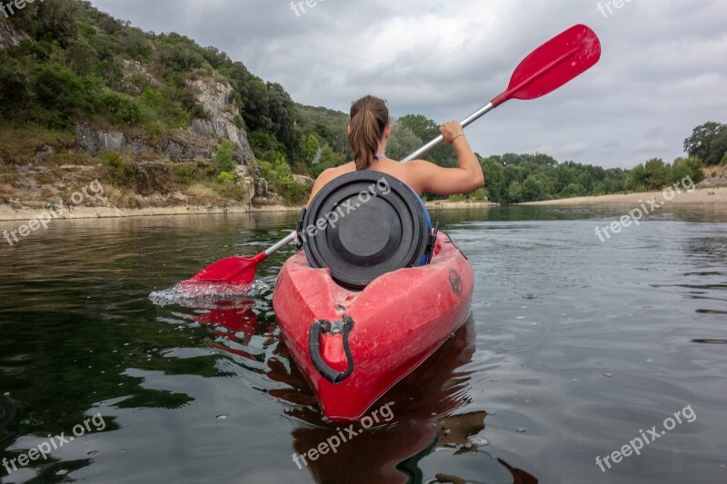
<path fill-rule="evenodd" d="M 360 171 L 327 183 L 298 224 L 311 267 L 363 289 L 377 277 L 431 260 L 436 229 L 422 199 L 392 175 Z"/>

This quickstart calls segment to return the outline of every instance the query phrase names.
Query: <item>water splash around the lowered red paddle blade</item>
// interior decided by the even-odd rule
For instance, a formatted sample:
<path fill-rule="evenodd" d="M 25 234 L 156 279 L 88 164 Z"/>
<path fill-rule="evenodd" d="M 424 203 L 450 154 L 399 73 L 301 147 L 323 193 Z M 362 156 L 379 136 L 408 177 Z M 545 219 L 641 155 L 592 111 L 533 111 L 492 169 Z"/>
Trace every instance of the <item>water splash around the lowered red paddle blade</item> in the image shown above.
<path fill-rule="evenodd" d="M 188 308 L 214 309 L 223 301 L 225 305 L 243 304 L 254 293 L 265 289 L 268 285 L 262 281 L 245 284 L 185 281 L 164 291 L 152 292 L 149 300 L 162 307 L 178 304 Z"/>

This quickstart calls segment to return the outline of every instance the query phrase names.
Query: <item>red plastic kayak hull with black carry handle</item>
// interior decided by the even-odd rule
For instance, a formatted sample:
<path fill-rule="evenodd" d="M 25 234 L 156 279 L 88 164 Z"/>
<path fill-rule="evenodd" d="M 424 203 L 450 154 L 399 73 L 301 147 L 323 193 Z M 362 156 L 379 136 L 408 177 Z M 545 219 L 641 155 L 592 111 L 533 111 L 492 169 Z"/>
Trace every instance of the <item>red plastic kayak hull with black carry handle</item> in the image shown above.
<path fill-rule="evenodd" d="M 470 311 L 472 266 L 443 233 L 432 263 L 390 272 L 363 291 L 350 291 L 328 269 L 308 265 L 304 252 L 285 262 L 275 283 L 273 307 L 294 361 L 311 383 L 326 418 L 358 420 L 393 385 L 419 366 L 457 331 Z M 308 354 L 315 321 L 354 321 L 349 336 L 354 371 L 334 384 Z M 321 355 L 344 371 L 348 361 L 341 334 L 323 334 Z"/>

